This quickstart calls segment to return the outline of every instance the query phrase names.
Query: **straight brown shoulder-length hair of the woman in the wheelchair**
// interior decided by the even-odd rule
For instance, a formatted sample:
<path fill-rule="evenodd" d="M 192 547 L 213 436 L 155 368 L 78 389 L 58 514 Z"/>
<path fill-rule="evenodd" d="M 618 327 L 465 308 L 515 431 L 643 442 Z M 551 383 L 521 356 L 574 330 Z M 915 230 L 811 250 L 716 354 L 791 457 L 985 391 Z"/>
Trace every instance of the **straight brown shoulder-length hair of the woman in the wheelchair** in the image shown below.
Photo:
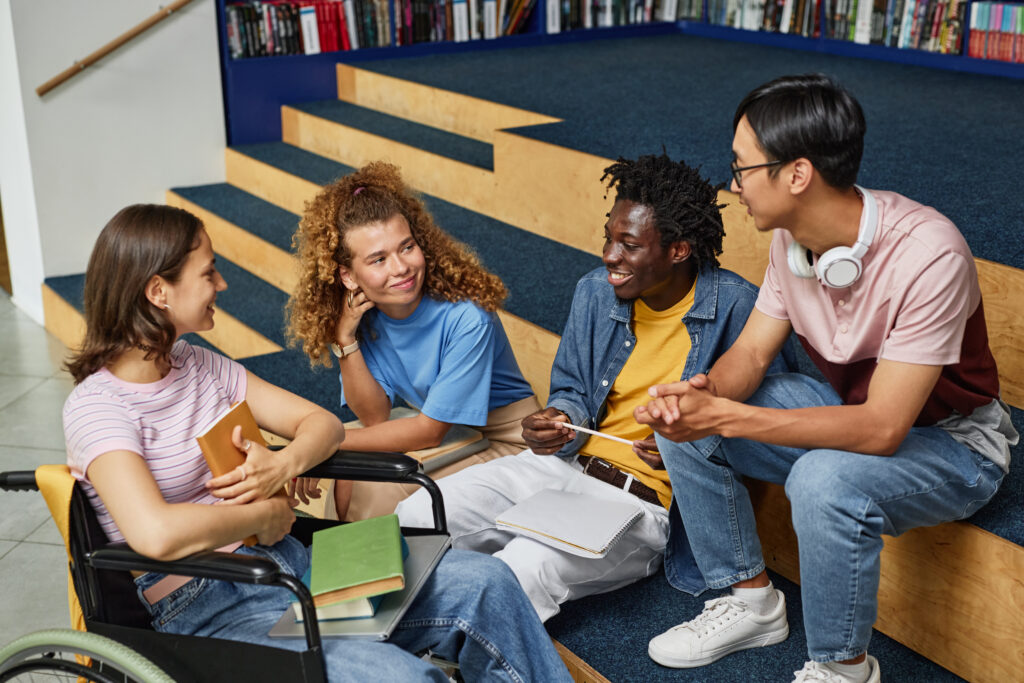
<path fill-rule="evenodd" d="M 169 359 L 174 325 L 145 298 L 145 286 L 154 275 L 178 281 L 201 229 L 187 211 L 158 204 L 135 204 L 111 218 L 85 272 L 85 339 L 67 364 L 76 384 L 131 348 Z"/>

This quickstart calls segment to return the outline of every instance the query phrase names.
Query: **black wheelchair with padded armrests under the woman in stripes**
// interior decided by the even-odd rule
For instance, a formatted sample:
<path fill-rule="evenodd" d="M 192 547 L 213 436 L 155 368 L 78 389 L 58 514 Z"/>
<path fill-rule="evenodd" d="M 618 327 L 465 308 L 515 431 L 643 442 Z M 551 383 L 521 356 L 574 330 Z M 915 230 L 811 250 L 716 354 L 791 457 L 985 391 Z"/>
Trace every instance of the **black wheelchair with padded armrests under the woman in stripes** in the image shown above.
<path fill-rule="evenodd" d="M 339 451 L 304 476 L 419 484 L 430 495 L 434 526 L 403 527 L 402 533 L 447 535 L 440 489 L 420 472 L 419 463 L 409 456 Z M 0 472 L 0 488 L 39 490 L 36 472 Z M 298 578 L 281 571 L 268 559 L 217 551 L 168 562 L 153 560 L 132 551 L 127 544 L 109 543 L 85 494 L 77 484 L 73 486 L 69 505 L 66 541 L 70 580 L 74 587 L 74 595 L 69 598 L 77 596 L 85 631 L 39 631 L 0 648 L 0 682 L 219 683 L 239 680 L 319 683 L 327 680 L 312 596 Z M 52 511 L 52 503 L 50 506 Z M 292 536 L 309 545 L 313 531 L 338 523 L 299 517 L 292 527 Z M 151 617 L 138 600 L 132 570 L 287 588 L 302 609 L 306 649 L 292 651 L 154 631 Z"/>

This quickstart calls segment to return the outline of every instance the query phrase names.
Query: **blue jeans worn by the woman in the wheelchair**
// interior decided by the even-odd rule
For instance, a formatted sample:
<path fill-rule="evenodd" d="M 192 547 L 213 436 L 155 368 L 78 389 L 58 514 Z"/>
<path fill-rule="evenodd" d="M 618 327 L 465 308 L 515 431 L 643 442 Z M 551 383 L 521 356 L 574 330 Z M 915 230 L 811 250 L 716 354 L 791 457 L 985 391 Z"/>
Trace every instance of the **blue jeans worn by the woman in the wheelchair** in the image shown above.
<path fill-rule="evenodd" d="M 297 577 L 309 563 L 309 549 L 292 537 L 274 546 L 243 546 L 234 552 L 269 557 Z M 135 583 L 141 592 L 162 575 L 144 574 Z M 291 595 L 284 588 L 194 579 L 147 607 L 157 631 L 302 650 L 304 639 L 267 636 Z M 478 553 L 449 551 L 390 640 L 324 639 L 332 682 L 446 683 L 439 669 L 414 654 L 428 648 L 458 661 L 468 681 L 571 680 L 511 570 Z"/>

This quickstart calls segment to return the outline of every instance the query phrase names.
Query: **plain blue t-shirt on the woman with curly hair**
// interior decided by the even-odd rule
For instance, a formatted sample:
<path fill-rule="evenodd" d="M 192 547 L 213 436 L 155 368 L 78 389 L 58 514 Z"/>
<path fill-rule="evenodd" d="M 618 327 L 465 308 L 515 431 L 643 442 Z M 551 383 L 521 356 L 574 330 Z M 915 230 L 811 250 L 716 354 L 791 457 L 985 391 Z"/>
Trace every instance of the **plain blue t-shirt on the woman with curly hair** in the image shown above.
<path fill-rule="evenodd" d="M 401 321 L 371 311 L 359 348 L 392 403 L 401 396 L 440 422 L 485 425 L 488 412 L 534 395 L 498 315 L 471 301 L 424 296 Z"/>

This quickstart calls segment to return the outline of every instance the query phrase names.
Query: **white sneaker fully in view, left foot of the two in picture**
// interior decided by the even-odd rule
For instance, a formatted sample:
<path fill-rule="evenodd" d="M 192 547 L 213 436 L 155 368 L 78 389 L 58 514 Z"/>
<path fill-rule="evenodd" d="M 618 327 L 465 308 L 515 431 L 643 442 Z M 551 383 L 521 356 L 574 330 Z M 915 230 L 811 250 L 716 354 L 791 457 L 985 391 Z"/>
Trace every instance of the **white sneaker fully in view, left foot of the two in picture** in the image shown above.
<path fill-rule="evenodd" d="M 790 624 L 785 621 L 785 596 L 777 589 L 775 596 L 775 608 L 768 614 L 752 611 L 732 595 L 709 600 L 696 618 L 652 638 L 647 654 L 665 667 L 689 669 L 736 650 L 780 643 L 790 635 Z"/>

